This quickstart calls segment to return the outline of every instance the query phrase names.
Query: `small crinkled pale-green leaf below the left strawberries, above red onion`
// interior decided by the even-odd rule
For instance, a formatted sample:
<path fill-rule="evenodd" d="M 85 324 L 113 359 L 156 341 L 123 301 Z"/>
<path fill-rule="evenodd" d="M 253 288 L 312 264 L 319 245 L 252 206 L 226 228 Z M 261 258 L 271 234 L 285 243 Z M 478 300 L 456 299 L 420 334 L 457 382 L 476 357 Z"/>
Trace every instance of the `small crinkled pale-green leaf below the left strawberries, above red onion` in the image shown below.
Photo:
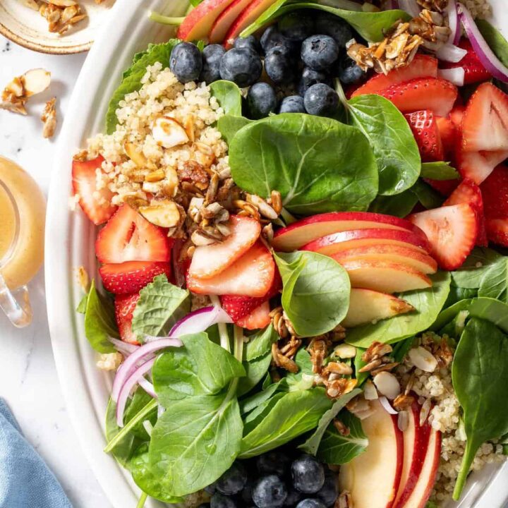
<path fill-rule="evenodd" d="M 166 275 L 157 275 L 140 291 L 133 313 L 133 332 L 138 339 L 145 335 L 164 337 L 190 310 L 189 292 L 168 282 Z"/>

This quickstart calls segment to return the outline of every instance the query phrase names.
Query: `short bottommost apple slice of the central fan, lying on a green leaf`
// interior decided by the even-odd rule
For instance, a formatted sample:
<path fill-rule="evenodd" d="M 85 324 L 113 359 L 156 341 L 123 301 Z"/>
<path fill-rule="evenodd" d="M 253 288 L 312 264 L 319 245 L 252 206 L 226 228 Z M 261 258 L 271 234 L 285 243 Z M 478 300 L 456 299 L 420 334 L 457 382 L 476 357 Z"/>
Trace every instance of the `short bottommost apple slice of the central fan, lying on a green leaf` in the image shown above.
<path fill-rule="evenodd" d="M 348 313 L 341 325 L 353 328 L 413 310 L 413 306 L 395 296 L 372 289 L 354 288 L 349 296 Z"/>

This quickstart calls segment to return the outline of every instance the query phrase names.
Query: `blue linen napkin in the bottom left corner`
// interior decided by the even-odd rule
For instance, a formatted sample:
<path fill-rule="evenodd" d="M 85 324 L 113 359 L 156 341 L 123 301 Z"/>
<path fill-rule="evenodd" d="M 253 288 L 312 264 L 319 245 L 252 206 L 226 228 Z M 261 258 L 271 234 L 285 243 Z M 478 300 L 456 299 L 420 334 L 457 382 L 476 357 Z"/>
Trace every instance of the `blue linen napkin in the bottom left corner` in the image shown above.
<path fill-rule="evenodd" d="M 54 474 L 0 399 L 0 508 L 72 508 Z"/>

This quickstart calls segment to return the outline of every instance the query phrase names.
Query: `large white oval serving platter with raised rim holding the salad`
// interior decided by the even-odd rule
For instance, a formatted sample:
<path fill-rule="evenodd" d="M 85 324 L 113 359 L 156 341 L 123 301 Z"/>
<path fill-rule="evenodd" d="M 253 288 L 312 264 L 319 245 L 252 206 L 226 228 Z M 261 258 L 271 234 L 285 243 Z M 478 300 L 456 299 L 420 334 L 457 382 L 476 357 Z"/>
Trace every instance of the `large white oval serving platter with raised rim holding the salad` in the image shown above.
<path fill-rule="evenodd" d="M 504 2 L 492 0 L 492 3 Z M 135 507 L 139 490 L 130 475 L 102 452 L 106 444 L 103 422 L 111 376 L 95 367 L 96 354 L 85 338 L 82 317 L 75 313 L 82 296 L 76 284 L 75 268 L 83 265 L 94 274 L 97 263 L 95 228 L 81 212 L 73 213 L 68 208 L 71 159 L 73 153 L 83 147 L 87 137 L 104 128 L 109 97 L 133 54 L 149 42 L 160 42 L 169 37 L 169 30 L 150 22 L 147 12 L 152 9 L 181 16 L 185 8 L 186 0 L 117 0 L 76 83 L 56 150 L 49 192 L 46 294 L 56 368 L 83 450 L 115 508 Z M 497 20 L 502 20 L 507 28 L 507 12 L 500 5 L 497 11 Z M 500 508 L 508 499 L 508 466 L 485 469 L 472 480 L 461 508 Z"/>

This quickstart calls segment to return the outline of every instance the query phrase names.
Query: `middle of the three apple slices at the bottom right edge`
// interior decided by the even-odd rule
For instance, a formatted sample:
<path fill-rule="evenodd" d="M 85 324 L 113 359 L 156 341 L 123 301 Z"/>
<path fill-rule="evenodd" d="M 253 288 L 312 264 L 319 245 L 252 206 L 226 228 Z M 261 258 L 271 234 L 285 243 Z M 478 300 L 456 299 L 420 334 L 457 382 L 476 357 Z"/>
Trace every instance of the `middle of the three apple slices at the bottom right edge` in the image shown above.
<path fill-rule="evenodd" d="M 394 502 L 394 508 L 404 507 L 418 483 L 425 462 L 432 427 L 428 420 L 420 425 L 421 406 L 414 401 L 409 412 L 409 425 L 404 430 L 404 464 L 401 484 Z"/>

